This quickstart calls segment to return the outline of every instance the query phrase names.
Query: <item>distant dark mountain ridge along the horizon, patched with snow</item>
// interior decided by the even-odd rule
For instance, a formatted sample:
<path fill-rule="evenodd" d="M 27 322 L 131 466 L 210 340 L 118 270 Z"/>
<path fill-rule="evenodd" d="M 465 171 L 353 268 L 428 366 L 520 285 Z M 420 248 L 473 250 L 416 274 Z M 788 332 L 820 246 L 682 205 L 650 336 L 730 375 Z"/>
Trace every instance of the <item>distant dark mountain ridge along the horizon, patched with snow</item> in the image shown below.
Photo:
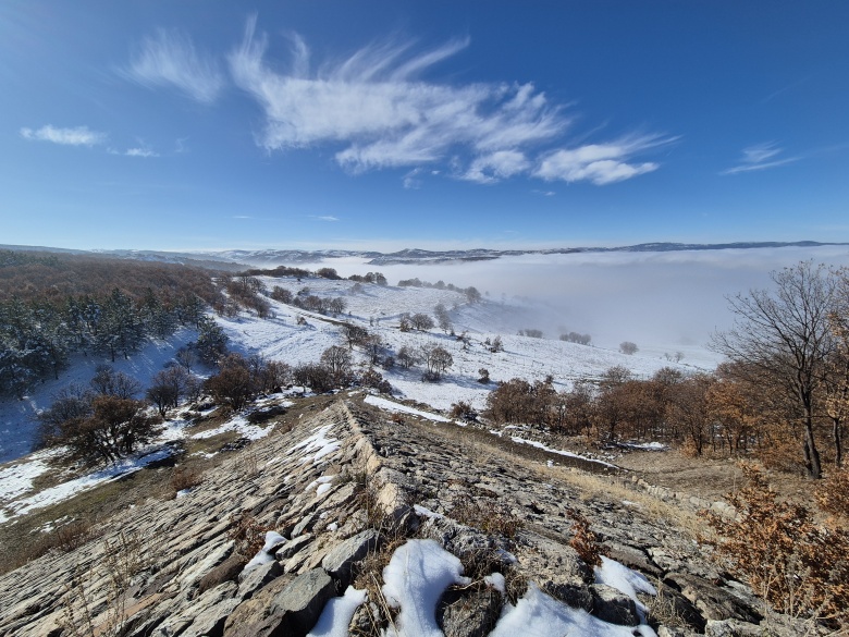
<path fill-rule="evenodd" d="M 821 247 L 821 246 L 849 246 L 849 243 L 838 242 L 734 242 L 734 243 L 641 243 L 636 245 L 616 247 L 562 247 L 543 249 L 455 249 L 455 250 L 426 250 L 420 248 L 405 248 L 394 253 L 380 253 L 377 250 L 299 250 L 299 249 L 231 249 L 231 250 L 138 250 L 138 249 L 98 249 L 81 250 L 66 248 L 51 248 L 45 246 L 15 246 L 0 245 L 0 249 L 52 252 L 77 255 L 102 255 L 121 259 L 139 259 L 195 265 L 200 267 L 221 267 L 233 269 L 234 266 L 278 266 L 283 264 L 316 264 L 332 261 L 339 258 L 357 257 L 367 259 L 367 265 L 428 265 L 445 264 L 451 261 L 480 261 L 497 259 L 507 256 L 521 255 L 568 255 L 577 253 L 664 253 L 685 250 L 723 250 L 723 249 L 761 249 L 783 247 Z"/>

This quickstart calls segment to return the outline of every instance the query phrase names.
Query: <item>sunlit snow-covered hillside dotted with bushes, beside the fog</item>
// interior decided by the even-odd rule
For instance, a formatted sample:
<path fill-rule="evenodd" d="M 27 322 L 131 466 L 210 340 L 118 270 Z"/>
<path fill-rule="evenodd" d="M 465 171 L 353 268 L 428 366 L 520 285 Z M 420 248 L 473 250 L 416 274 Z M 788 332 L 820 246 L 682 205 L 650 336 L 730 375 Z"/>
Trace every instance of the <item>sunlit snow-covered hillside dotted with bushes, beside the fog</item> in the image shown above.
<path fill-rule="evenodd" d="M 237 343 L 246 353 L 257 353 L 290 365 L 316 362 L 327 347 L 344 344 L 341 321 L 358 324 L 379 334 L 390 352 L 397 352 L 405 345 L 419 348 L 426 343 L 436 343 L 447 350 L 454 359 L 441 382 L 423 382 L 421 367 L 403 369 L 395 366 L 381 372 L 403 397 L 427 403 L 438 409 L 447 409 L 457 401 L 483 408 L 487 394 L 493 385 L 478 382 L 482 368 L 489 370 L 493 381 L 514 377 L 542 380 L 551 375 L 555 387 L 565 389 L 578 378 L 599 377 L 616 365 L 623 365 L 643 378 L 662 367 L 676 365 L 657 355 L 626 356 L 559 340 L 516 335 L 518 330 L 532 327 L 533 323 L 528 321 L 532 319 L 534 308 L 515 301 L 484 299 L 469 304 L 464 294 L 450 290 L 374 284 L 362 284 L 362 291 L 355 292 L 355 284 L 350 281 L 310 279 L 297 282 L 290 278 L 269 277 L 262 281 L 269 289 L 280 285 L 296 293 L 300 287 L 308 287 L 310 294 L 319 297 L 342 297 L 347 304 L 346 314 L 325 317 L 272 301 L 275 314 L 273 319 L 261 320 L 250 316 L 233 320 L 218 319 L 234 346 Z M 432 316 L 438 303 L 448 308 L 457 334 L 468 331 L 470 342 L 467 346 L 464 347 L 460 341 L 438 328 L 427 332 L 402 332 L 398 329 L 402 314 L 424 313 Z M 298 317 L 303 317 L 307 324 L 297 324 Z M 495 336 L 501 336 L 504 351 L 492 353 L 484 341 L 492 341 Z M 355 358 L 360 365 L 367 365 L 364 354 L 355 354 Z M 687 363 L 686 358 L 684 363 Z M 679 367 L 684 370 L 693 369 L 690 365 Z"/>

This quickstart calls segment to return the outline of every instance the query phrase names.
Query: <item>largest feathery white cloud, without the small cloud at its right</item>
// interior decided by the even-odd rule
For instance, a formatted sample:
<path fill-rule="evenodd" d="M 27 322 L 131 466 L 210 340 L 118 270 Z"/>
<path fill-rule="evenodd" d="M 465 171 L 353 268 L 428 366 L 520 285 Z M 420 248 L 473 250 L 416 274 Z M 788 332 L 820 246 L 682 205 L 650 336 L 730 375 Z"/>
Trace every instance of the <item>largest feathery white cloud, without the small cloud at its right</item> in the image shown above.
<path fill-rule="evenodd" d="M 267 40 L 250 21 L 230 56 L 236 84 L 266 112 L 259 143 L 270 150 L 341 143 L 336 161 L 357 172 L 434 162 L 454 146 L 494 152 L 540 143 L 567 124 L 529 84 L 455 87 L 418 79 L 468 40 L 418 56 L 407 54 L 408 45 L 376 45 L 315 71 L 304 41 L 293 41 L 291 68 L 279 73 L 264 63 Z"/>

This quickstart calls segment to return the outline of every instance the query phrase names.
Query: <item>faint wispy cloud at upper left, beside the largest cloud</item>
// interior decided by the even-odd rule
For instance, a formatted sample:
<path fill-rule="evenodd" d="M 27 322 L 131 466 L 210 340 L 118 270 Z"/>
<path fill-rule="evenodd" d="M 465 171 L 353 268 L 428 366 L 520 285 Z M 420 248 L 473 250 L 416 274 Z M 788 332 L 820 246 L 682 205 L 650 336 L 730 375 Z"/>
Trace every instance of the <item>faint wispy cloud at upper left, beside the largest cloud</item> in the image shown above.
<path fill-rule="evenodd" d="M 158 29 L 143 40 L 125 75 L 145 86 L 174 86 L 200 102 L 212 102 L 224 87 L 218 63 L 195 49 L 176 29 Z"/>

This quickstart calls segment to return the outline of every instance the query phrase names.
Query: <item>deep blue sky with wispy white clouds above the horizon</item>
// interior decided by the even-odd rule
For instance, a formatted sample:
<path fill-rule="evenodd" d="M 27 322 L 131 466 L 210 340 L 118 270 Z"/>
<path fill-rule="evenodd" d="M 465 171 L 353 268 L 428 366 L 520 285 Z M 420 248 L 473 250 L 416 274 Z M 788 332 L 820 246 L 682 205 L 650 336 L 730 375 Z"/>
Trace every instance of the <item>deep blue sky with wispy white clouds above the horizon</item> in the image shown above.
<path fill-rule="evenodd" d="M 849 241 L 849 3 L 0 3 L 0 243 Z"/>

